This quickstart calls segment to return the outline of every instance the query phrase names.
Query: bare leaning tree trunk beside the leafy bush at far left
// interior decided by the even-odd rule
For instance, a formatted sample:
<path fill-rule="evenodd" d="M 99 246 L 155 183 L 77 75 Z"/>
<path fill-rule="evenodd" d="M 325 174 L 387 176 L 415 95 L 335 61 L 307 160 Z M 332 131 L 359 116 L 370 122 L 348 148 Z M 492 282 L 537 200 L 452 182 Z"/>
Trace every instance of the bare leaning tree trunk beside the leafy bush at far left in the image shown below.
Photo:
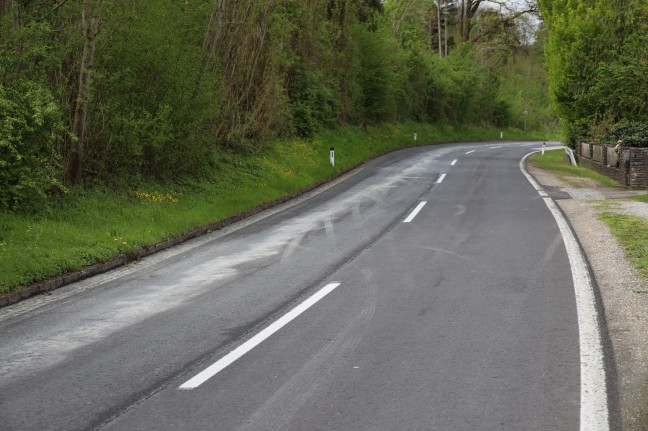
<path fill-rule="evenodd" d="M 88 118 L 88 98 L 90 95 L 91 69 L 94 60 L 97 34 L 99 33 L 99 10 L 102 0 L 96 0 L 93 10 L 90 8 L 90 0 L 84 0 L 81 23 L 85 44 L 81 57 L 79 71 L 79 90 L 74 110 L 74 125 L 72 132 L 76 135 L 76 141 L 68 155 L 65 168 L 65 180 L 68 184 L 75 185 L 81 180 L 81 168 L 83 163 L 83 151 L 86 140 L 86 121 Z"/>

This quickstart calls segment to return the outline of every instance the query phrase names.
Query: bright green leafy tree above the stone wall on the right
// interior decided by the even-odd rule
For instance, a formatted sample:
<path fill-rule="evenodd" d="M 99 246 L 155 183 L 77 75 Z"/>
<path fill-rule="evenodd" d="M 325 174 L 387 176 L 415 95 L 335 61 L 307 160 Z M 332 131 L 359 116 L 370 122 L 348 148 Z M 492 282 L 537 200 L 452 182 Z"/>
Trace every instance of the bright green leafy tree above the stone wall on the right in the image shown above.
<path fill-rule="evenodd" d="M 540 0 L 539 6 L 552 99 L 570 143 L 597 138 L 609 124 L 648 120 L 648 4 Z"/>

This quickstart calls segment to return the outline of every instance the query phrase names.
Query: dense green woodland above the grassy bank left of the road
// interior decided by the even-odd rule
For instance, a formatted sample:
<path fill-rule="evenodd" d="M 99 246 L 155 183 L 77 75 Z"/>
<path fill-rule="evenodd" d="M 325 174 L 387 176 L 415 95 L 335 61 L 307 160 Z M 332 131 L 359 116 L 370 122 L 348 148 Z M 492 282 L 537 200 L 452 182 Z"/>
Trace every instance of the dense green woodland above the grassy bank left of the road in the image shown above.
<path fill-rule="evenodd" d="M 446 0 L 5 5 L 0 84 L 14 102 L 25 85 L 51 95 L 59 123 L 43 126 L 52 141 L 41 144 L 40 165 L 47 178 L 70 183 L 80 172 L 86 186 L 210 178 L 223 155 L 262 155 L 275 140 L 326 128 L 409 120 L 506 127 L 519 124 L 520 94 L 546 89 L 538 55 L 525 63 L 533 81 L 505 68 L 513 52 L 527 58 L 519 19 L 473 14 L 472 42 L 458 45 L 465 23 Z M 547 101 L 530 99 L 529 126 L 551 126 Z M 34 181 L 41 191 L 50 184 Z M 12 202 L 5 205 L 17 208 Z"/>

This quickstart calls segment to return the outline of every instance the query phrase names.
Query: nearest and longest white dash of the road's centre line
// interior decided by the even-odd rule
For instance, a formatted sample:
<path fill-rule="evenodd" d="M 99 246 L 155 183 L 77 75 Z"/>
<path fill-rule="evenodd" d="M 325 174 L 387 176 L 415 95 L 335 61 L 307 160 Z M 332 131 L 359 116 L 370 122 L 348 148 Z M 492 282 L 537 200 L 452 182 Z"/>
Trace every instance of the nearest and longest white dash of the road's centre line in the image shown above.
<path fill-rule="evenodd" d="M 248 341 L 232 350 L 227 355 L 223 356 L 221 359 L 216 361 L 214 364 L 207 367 L 204 371 L 198 373 L 195 377 L 187 380 L 185 383 L 180 385 L 178 389 L 195 389 L 198 386 L 205 383 L 207 380 L 214 377 L 220 371 L 225 369 L 227 366 L 231 365 L 234 361 L 239 359 L 241 356 L 245 355 L 250 350 L 254 349 L 256 346 L 261 344 L 264 340 L 269 338 L 272 334 L 286 326 L 297 316 L 302 314 L 304 311 L 308 310 L 314 304 L 316 304 L 320 299 L 324 298 L 326 295 L 331 293 L 338 287 L 340 283 L 330 283 L 318 290 L 304 302 L 299 304 L 297 307 L 290 310 L 288 313 L 284 314 L 270 326 L 256 334 L 254 337 L 250 338 Z"/>

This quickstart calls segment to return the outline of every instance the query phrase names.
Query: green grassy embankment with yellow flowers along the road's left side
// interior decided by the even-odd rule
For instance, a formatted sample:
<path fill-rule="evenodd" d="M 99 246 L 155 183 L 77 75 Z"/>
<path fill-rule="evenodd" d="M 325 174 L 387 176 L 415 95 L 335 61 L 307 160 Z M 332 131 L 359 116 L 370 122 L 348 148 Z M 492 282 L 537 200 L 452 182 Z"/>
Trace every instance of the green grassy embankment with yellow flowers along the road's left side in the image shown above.
<path fill-rule="evenodd" d="M 405 123 L 322 131 L 276 142 L 263 155 L 223 157 L 211 180 L 75 189 L 47 214 L 0 212 L 0 294 L 105 262 L 299 192 L 369 158 L 419 143 L 498 140 L 499 129 Z M 504 131 L 505 139 L 555 139 Z M 335 168 L 329 148 L 335 147 Z"/>

